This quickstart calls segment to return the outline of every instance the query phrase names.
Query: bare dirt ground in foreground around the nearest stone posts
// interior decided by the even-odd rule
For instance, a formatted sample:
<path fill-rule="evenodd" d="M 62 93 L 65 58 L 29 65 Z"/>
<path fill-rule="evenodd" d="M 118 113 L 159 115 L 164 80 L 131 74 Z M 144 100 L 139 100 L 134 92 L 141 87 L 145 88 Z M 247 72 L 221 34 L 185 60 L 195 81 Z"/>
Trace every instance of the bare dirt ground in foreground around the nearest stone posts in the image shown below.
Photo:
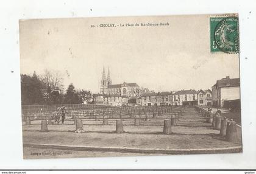
<path fill-rule="evenodd" d="M 32 125 L 23 125 L 24 158 L 69 158 L 91 156 L 127 156 L 151 155 L 149 153 L 127 153 L 125 151 L 99 151 L 98 149 L 142 149 L 142 150 L 201 150 L 241 147 L 241 128 L 237 127 L 239 142 L 227 142 L 219 136 L 219 130 L 211 127 L 205 118 L 188 111 L 180 117 L 177 126 L 171 127 L 172 134 L 163 134 L 163 119 L 140 120 L 134 125 L 134 119 L 123 119 L 124 133 L 115 133 L 116 119 L 83 120 L 85 133 L 74 133 L 74 120 L 66 120 L 63 125 L 48 125 L 48 132 L 41 132 L 40 120 Z M 57 150 L 53 147 L 28 147 L 37 145 L 62 145 L 65 147 L 93 147 L 91 151 Z M 96 149 L 96 151 L 94 151 Z M 71 151 L 71 152 L 70 152 Z M 45 153 L 44 153 L 45 152 Z M 47 153 L 48 152 L 48 153 Z M 152 152 L 150 152 L 152 153 Z M 153 154 L 154 155 L 154 154 Z"/>

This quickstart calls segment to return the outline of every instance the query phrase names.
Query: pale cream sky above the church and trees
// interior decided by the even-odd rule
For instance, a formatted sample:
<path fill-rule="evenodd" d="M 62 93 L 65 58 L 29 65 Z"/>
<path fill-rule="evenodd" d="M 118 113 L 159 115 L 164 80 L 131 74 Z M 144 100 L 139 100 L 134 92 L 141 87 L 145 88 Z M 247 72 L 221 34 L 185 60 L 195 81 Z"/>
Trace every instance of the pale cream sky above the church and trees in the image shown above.
<path fill-rule="evenodd" d="M 209 17 L 21 20 L 21 73 L 59 71 L 65 88 L 73 83 L 77 89 L 97 93 L 105 65 L 113 84 L 137 83 L 156 92 L 211 89 L 216 80 L 237 78 L 240 72 L 238 54 L 210 53 Z M 120 27 L 120 23 L 139 26 Z M 141 23 L 168 25 L 140 26 Z M 116 27 L 97 27 L 100 24 Z"/>

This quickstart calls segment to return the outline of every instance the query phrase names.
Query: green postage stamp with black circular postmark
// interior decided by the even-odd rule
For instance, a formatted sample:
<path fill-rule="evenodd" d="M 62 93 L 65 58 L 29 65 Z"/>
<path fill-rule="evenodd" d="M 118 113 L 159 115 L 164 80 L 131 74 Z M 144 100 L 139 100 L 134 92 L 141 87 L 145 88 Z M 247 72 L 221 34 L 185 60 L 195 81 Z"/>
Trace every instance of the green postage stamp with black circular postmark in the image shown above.
<path fill-rule="evenodd" d="M 210 52 L 239 53 L 238 16 L 210 17 Z"/>

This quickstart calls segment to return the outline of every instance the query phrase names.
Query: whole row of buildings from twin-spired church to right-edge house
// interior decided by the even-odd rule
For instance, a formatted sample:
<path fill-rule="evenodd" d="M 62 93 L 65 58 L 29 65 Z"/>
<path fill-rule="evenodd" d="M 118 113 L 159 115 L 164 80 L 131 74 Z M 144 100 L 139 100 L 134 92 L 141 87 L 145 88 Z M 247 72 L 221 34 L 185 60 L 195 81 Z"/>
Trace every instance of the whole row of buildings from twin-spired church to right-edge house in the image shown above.
<path fill-rule="evenodd" d="M 141 89 L 137 83 L 112 84 L 110 71 L 107 78 L 105 69 L 102 71 L 101 89 L 99 94 L 93 94 L 93 103 L 107 106 L 129 105 L 199 105 L 199 106 L 224 106 L 225 101 L 240 100 L 240 78 L 229 76 L 217 80 L 211 89 L 181 90 L 154 92 Z"/>

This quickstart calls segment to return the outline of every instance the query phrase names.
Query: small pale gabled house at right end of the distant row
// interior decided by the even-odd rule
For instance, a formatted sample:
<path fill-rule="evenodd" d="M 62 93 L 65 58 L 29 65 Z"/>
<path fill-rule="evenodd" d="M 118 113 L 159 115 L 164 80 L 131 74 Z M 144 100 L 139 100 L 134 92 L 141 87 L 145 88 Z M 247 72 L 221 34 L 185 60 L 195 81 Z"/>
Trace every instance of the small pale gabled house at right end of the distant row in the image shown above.
<path fill-rule="evenodd" d="M 200 89 L 197 94 L 198 106 L 212 106 L 212 91 L 210 89 Z"/>

